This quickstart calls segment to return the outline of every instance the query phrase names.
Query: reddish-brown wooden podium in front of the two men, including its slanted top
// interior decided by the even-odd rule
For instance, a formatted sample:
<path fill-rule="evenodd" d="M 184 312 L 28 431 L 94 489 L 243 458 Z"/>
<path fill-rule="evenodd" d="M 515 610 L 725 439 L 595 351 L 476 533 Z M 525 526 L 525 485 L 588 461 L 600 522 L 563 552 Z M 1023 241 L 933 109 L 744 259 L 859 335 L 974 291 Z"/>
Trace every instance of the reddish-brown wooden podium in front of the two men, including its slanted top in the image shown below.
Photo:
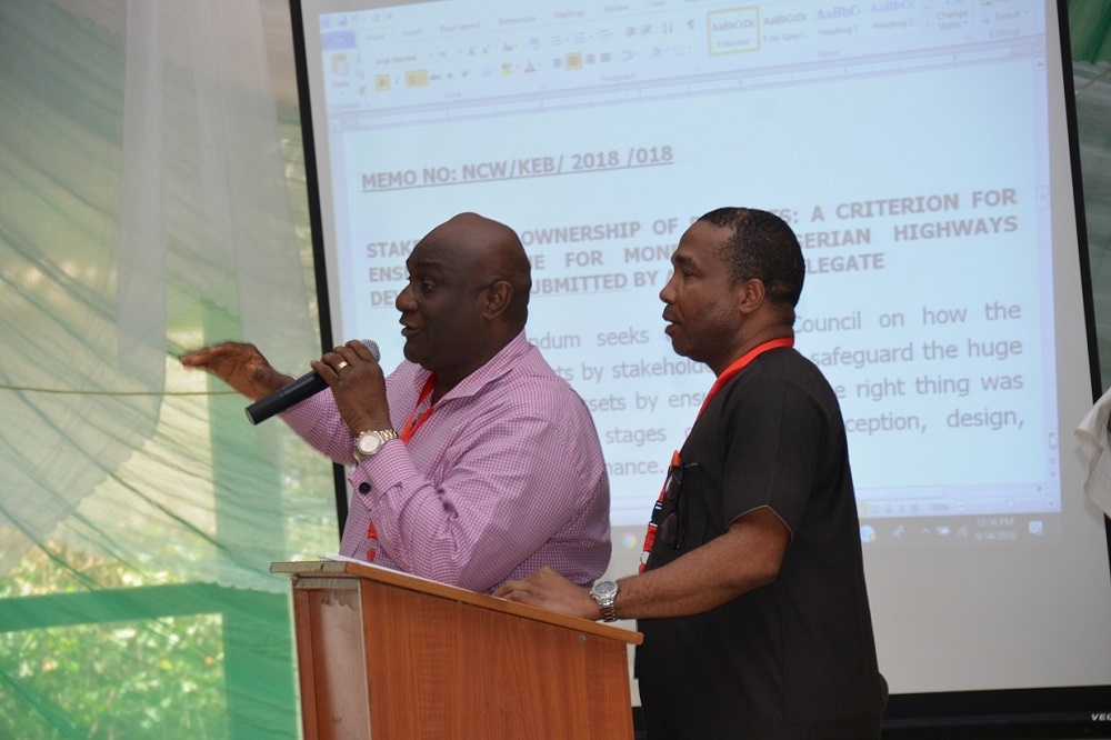
<path fill-rule="evenodd" d="M 640 632 L 368 563 L 292 578 L 308 739 L 632 738 Z"/>

